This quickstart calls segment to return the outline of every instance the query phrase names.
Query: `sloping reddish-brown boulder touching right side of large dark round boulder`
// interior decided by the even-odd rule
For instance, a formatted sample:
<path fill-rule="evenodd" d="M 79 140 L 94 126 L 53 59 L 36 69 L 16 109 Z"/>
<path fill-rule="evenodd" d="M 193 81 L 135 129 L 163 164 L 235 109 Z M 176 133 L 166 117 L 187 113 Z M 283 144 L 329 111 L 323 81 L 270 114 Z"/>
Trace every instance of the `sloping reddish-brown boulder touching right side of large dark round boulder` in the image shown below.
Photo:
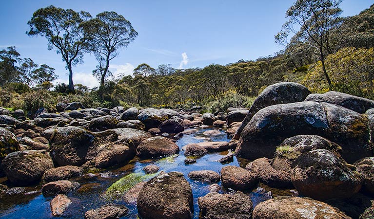
<path fill-rule="evenodd" d="M 95 167 L 105 168 L 114 164 L 123 164 L 135 157 L 135 150 L 126 145 L 109 143 L 98 152 Z"/>

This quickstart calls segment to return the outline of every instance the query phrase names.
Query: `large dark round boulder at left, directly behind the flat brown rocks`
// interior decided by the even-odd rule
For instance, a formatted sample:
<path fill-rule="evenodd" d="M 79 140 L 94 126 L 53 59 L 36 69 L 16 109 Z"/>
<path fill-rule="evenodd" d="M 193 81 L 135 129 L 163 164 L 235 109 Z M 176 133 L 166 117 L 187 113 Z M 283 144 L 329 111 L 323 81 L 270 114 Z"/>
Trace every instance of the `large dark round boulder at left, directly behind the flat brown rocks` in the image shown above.
<path fill-rule="evenodd" d="M 60 166 L 80 166 L 95 157 L 94 139 L 93 133 L 82 128 L 58 128 L 49 141 L 51 157 Z"/>

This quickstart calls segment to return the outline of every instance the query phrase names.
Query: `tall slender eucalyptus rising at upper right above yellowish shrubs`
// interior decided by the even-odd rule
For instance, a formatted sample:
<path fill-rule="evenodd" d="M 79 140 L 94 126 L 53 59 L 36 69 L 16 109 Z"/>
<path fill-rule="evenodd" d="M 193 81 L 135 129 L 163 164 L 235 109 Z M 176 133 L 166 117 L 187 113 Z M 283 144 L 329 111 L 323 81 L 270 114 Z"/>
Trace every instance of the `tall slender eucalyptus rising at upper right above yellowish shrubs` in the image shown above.
<path fill-rule="evenodd" d="M 325 58 L 334 51 L 331 38 L 334 29 L 341 23 L 342 0 L 296 0 L 287 10 L 288 21 L 275 36 L 276 42 L 287 45 L 290 34 L 295 34 L 291 41 L 306 43 L 314 48 L 322 63 L 322 70 L 329 85 L 331 80 L 325 67 Z M 298 29 L 298 30 L 297 30 Z"/>

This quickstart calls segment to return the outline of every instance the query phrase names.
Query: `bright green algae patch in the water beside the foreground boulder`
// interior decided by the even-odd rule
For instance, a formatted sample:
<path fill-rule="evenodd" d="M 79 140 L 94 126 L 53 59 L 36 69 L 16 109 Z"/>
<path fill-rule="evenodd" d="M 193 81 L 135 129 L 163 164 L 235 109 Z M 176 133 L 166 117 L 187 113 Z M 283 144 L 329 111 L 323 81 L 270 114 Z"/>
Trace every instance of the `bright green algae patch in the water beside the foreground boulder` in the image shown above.
<path fill-rule="evenodd" d="M 130 173 L 129 175 L 122 177 L 116 183 L 113 183 L 105 192 L 105 197 L 107 199 L 116 200 L 119 199 L 123 194 L 129 191 L 136 184 L 147 181 L 155 177 L 157 173 L 154 174 L 141 174 L 141 173 Z"/>

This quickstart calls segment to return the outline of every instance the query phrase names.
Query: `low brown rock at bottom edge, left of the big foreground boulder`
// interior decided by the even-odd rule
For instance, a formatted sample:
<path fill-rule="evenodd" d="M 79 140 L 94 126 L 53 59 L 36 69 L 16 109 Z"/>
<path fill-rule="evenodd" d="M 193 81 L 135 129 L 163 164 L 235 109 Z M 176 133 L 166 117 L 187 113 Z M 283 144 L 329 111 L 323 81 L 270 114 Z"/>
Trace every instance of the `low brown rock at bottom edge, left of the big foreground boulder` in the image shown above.
<path fill-rule="evenodd" d="M 119 219 L 128 213 L 129 209 L 124 205 L 104 205 L 95 210 L 89 210 L 84 214 L 85 219 Z"/>

